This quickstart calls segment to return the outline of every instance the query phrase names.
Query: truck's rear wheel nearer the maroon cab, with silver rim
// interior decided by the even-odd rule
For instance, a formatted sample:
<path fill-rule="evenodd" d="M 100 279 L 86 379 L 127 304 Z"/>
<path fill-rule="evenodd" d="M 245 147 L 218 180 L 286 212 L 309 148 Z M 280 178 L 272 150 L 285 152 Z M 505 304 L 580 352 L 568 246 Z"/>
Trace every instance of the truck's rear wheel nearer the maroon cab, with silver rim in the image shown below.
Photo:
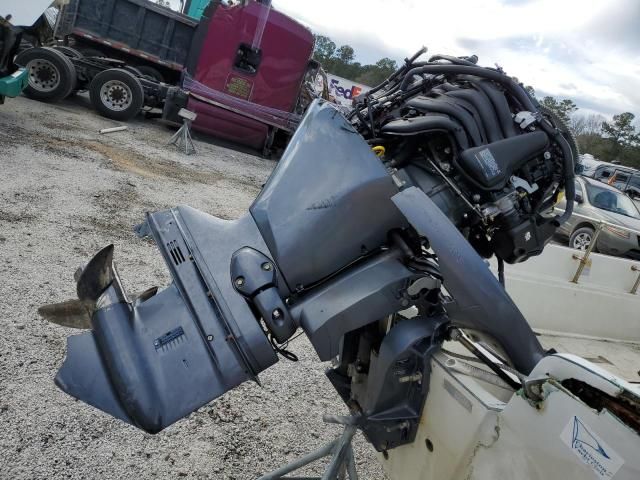
<path fill-rule="evenodd" d="M 93 78 L 89 98 L 101 115 L 124 121 L 135 117 L 144 105 L 144 90 L 132 73 L 110 68 Z"/>

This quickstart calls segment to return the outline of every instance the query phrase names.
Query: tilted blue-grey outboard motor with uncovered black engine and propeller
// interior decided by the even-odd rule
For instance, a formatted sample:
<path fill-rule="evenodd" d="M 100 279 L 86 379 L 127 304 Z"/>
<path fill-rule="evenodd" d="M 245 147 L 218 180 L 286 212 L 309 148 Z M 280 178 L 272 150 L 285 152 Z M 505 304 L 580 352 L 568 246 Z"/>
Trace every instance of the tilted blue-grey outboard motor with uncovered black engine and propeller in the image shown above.
<path fill-rule="evenodd" d="M 407 60 L 351 120 L 312 104 L 241 218 L 149 214 L 137 231 L 165 259 L 165 289 L 129 296 L 113 247 L 99 252 L 77 299 L 40 310 L 90 329 L 69 339 L 57 385 L 158 432 L 257 381 L 301 328 L 320 360 L 337 358 L 329 379 L 388 450 L 413 441 L 430 358 L 453 329 L 529 373 L 544 352 L 478 253 L 542 250 L 572 152 L 509 77 L 439 62 Z"/>

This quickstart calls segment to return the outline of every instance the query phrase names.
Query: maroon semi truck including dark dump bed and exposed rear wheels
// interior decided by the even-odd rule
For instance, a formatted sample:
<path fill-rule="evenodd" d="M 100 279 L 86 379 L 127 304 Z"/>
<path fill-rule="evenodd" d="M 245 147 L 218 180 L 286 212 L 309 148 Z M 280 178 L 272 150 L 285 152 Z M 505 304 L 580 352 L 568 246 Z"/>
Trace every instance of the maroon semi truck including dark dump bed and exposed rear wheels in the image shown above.
<path fill-rule="evenodd" d="M 196 130 L 265 153 L 286 140 L 300 113 L 313 35 L 270 1 L 213 0 L 200 20 L 148 0 L 70 0 L 50 46 L 22 51 L 25 94 L 58 101 L 88 90 L 102 115 L 126 121 L 146 107 Z M 197 92 L 197 93 L 196 93 Z"/>

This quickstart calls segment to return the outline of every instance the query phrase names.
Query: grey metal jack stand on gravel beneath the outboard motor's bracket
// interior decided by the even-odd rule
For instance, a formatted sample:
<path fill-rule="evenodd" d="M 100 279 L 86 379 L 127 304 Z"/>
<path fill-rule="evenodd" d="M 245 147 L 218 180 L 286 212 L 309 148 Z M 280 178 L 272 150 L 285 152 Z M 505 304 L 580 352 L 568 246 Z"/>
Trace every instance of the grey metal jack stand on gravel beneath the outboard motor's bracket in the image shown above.
<path fill-rule="evenodd" d="M 358 480 L 356 463 L 353 457 L 351 441 L 358 430 L 360 417 L 344 417 L 339 415 L 324 415 L 322 420 L 326 423 L 344 425 L 344 431 L 340 437 L 327 443 L 319 449 L 300 457 L 297 460 L 280 467 L 279 469 L 263 475 L 258 480 L 344 480 L 349 475 L 350 480 Z M 309 465 L 321 458 L 331 456 L 331 461 L 322 477 L 285 477 L 301 467 Z"/>

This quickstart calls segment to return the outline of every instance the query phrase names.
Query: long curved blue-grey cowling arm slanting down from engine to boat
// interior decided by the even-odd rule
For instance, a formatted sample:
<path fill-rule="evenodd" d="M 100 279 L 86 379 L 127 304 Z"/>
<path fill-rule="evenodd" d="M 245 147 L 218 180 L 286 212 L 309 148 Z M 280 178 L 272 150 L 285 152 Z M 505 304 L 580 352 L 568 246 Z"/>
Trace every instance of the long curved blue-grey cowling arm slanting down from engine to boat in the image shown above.
<path fill-rule="evenodd" d="M 455 300 L 447 308 L 452 323 L 493 337 L 518 370 L 531 372 L 544 350 L 487 264 L 422 190 L 407 188 L 392 200 L 438 255 L 444 285 Z"/>

